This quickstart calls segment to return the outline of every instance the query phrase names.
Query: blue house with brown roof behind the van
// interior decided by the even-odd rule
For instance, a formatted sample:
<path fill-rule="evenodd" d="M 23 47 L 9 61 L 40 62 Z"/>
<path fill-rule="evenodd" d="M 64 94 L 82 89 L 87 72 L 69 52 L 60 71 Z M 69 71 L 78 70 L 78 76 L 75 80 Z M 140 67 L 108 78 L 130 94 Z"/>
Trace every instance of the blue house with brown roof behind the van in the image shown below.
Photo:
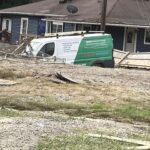
<path fill-rule="evenodd" d="M 7 29 L 12 44 L 23 37 L 40 37 L 46 33 L 99 31 L 101 4 L 101 0 L 43 0 L 3 9 L 0 30 Z M 78 11 L 69 13 L 68 5 Z M 112 35 L 114 48 L 150 52 L 149 9 L 149 0 L 108 0 L 106 32 Z"/>

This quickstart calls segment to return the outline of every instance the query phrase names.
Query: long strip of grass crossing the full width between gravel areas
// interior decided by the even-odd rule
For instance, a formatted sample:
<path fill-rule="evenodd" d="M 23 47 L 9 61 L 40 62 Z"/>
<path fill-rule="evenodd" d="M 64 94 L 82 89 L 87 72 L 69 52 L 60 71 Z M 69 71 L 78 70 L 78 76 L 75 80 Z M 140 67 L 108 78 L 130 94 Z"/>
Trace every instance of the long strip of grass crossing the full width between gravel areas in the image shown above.
<path fill-rule="evenodd" d="M 72 102 L 60 102 L 53 97 L 41 97 L 37 101 L 36 96 L 28 97 L 28 94 L 18 96 L 0 96 L 0 107 L 12 108 L 21 111 L 53 111 L 61 112 L 72 117 L 89 118 L 113 118 L 117 121 L 133 122 L 141 121 L 150 123 L 150 106 L 140 104 L 124 104 L 116 107 L 110 104 L 95 102 L 94 104 L 75 104 Z"/>

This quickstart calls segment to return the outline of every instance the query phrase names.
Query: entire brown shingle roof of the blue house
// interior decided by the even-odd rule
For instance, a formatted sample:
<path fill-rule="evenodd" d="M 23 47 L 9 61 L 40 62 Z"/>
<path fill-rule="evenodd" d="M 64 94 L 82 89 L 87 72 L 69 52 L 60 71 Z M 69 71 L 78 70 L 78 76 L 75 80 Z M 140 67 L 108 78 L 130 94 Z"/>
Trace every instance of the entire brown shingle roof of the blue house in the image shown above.
<path fill-rule="evenodd" d="M 99 3 L 98 3 L 99 1 Z M 67 5 L 78 7 L 76 14 L 69 14 Z M 44 0 L 32 4 L 0 10 L 0 14 L 46 16 L 53 20 L 99 23 L 102 0 Z M 108 0 L 107 23 L 116 25 L 150 26 L 149 0 Z"/>

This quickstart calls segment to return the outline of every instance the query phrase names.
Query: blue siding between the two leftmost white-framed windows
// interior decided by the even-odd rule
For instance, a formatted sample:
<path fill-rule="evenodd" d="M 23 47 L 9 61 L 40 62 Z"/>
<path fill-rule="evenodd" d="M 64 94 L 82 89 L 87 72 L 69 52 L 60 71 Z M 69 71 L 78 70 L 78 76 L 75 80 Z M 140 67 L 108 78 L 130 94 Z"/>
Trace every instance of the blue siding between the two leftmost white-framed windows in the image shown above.
<path fill-rule="evenodd" d="M 21 24 L 21 17 L 14 16 L 12 18 L 11 40 L 10 40 L 12 44 L 15 44 L 16 41 L 19 41 L 20 24 Z"/>

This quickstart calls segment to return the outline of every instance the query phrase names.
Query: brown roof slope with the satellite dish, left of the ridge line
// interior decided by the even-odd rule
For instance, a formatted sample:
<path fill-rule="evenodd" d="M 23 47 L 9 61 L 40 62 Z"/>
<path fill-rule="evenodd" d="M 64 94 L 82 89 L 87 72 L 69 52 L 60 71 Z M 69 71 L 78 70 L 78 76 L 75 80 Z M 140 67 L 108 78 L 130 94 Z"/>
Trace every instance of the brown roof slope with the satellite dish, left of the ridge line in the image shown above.
<path fill-rule="evenodd" d="M 59 0 L 44 0 L 33 4 L 3 9 L 0 13 L 4 14 L 26 14 L 49 16 L 53 19 L 73 20 L 83 22 L 99 22 L 102 0 L 71 0 L 68 3 L 59 4 Z M 109 12 L 117 0 L 110 0 L 107 12 Z M 78 7 L 78 12 L 74 15 L 68 13 L 67 5 Z"/>

